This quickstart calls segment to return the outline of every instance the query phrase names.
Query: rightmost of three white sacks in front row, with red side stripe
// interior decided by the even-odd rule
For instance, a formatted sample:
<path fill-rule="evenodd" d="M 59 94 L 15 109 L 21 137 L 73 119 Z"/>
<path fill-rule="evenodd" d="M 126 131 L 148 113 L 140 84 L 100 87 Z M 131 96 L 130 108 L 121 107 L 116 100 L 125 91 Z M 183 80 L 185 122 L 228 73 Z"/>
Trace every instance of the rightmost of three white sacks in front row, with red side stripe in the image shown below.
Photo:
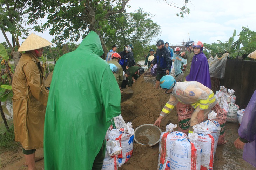
<path fill-rule="evenodd" d="M 193 126 L 194 133 L 198 134 L 196 143 L 202 149 L 201 153 L 201 170 L 213 169 L 213 151 L 214 151 L 214 138 L 211 132 L 200 124 Z"/>

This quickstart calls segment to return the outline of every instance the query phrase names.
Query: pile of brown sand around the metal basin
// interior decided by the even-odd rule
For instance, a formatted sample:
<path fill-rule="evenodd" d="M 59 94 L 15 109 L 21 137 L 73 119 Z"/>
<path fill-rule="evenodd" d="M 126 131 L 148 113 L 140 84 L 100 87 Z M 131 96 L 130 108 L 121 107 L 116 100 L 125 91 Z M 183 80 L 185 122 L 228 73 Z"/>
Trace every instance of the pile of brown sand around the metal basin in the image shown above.
<path fill-rule="evenodd" d="M 155 81 L 154 78 L 150 78 Z M 121 115 L 124 121 L 132 122 L 134 130 L 143 124 L 154 124 L 155 120 L 169 97 L 162 89 L 155 89 L 152 83 L 146 83 L 140 77 L 132 86 L 133 94 L 122 94 Z M 166 119 L 162 120 L 161 130 L 166 131 L 166 125 L 177 123 L 176 109 Z M 133 154 L 130 160 L 118 168 L 119 170 L 157 169 L 159 144 L 143 146 L 134 142 Z"/>

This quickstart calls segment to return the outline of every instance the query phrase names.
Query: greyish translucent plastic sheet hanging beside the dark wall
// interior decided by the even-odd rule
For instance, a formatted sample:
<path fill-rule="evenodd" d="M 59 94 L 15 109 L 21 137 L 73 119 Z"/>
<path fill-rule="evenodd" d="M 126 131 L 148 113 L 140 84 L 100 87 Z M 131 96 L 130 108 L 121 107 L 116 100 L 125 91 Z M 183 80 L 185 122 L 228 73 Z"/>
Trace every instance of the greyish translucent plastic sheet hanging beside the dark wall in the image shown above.
<path fill-rule="evenodd" d="M 208 59 L 209 73 L 211 77 L 224 78 L 227 58 L 229 58 L 229 53 L 223 54 L 221 58 L 215 56 L 213 60 L 211 58 Z"/>

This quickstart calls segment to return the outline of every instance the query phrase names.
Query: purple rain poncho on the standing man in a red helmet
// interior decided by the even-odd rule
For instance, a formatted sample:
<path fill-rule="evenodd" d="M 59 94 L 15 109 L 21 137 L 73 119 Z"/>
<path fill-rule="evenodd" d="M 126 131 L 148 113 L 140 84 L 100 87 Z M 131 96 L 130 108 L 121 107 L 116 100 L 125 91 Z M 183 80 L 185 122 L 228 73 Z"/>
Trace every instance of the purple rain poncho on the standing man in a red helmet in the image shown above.
<path fill-rule="evenodd" d="M 209 73 L 209 65 L 203 52 L 193 56 L 187 81 L 197 81 L 211 89 L 211 78 Z"/>

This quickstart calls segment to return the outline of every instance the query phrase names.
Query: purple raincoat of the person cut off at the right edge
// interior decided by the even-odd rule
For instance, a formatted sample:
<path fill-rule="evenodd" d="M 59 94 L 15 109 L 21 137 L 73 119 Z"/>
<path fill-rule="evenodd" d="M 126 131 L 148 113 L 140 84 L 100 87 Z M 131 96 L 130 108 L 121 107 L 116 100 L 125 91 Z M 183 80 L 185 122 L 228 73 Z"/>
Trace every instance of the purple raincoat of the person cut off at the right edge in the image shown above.
<path fill-rule="evenodd" d="M 256 90 L 247 105 L 242 123 L 238 129 L 241 138 L 251 143 L 244 145 L 243 158 L 245 161 L 256 167 Z"/>

